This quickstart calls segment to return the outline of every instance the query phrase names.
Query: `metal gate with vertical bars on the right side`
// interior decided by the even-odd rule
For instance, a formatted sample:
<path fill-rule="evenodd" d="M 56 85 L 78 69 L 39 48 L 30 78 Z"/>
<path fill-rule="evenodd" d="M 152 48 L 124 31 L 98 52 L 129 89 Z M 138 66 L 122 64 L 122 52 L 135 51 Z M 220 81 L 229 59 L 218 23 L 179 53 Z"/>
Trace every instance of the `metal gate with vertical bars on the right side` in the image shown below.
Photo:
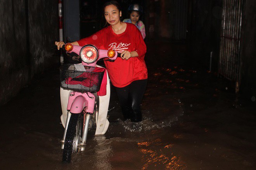
<path fill-rule="evenodd" d="M 242 1 L 223 0 L 220 38 L 218 73 L 228 80 L 235 81 L 236 88 L 238 88 L 238 82 L 240 82 Z"/>

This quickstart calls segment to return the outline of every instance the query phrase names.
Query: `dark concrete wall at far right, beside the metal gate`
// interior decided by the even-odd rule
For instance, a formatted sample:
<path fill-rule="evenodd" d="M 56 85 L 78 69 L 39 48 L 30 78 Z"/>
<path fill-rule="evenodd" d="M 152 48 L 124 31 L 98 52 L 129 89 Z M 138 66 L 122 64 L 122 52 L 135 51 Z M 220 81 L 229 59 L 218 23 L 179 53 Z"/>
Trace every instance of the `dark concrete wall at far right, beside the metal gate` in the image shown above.
<path fill-rule="evenodd" d="M 241 47 L 241 93 L 255 102 L 256 98 L 256 2 L 244 1 Z"/>

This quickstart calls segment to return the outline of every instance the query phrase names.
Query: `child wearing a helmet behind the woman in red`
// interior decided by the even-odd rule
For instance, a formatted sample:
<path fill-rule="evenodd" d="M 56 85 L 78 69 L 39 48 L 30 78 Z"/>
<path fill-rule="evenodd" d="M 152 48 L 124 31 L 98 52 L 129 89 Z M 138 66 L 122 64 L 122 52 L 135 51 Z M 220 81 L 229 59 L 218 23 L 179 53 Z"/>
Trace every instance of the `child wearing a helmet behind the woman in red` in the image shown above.
<path fill-rule="evenodd" d="M 123 22 L 128 22 L 134 24 L 141 32 L 143 39 L 146 37 L 145 25 L 140 19 L 142 14 L 142 7 L 138 4 L 130 5 L 128 8 L 130 19 L 124 19 Z"/>

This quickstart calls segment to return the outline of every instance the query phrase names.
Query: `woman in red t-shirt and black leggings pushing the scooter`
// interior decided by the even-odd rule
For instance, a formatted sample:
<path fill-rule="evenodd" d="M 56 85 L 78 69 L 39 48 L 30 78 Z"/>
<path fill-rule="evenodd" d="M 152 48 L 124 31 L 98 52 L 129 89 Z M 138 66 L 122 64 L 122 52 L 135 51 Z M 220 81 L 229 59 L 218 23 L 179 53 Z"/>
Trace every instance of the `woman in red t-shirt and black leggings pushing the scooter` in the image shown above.
<path fill-rule="evenodd" d="M 134 24 L 121 22 L 121 8 L 111 0 L 104 4 L 104 17 L 109 26 L 90 37 L 72 42 L 84 46 L 93 44 L 99 49 L 113 49 L 121 53 L 114 62 L 104 61 L 121 104 L 124 119 L 142 121 L 140 104 L 147 86 L 147 67 L 144 61 L 146 45 Z M 64 42 L 55 42 L 59 49 Z"/>

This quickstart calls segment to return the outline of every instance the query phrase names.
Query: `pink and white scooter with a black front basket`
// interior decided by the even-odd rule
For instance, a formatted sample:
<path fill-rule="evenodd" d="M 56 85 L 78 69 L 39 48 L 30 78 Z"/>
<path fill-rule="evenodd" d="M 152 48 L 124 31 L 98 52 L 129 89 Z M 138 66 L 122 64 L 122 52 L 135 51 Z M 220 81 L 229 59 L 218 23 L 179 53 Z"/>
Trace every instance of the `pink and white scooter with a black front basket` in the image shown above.
<path fill-rule="evenodd" d="M 109 127 L 107 111 L 110 85 L 107 70 L 96 65 L 102 58 L 114 61 L 114 50 L 83 47 L 71 43 L 62 47 L 67 53 L 81 57 L 81 64 L 65 64 L 60 68 L 61 122 L 64 126 L 62 162 L 70 162 L 73 152 L 84 151 L 88 129 L 96 124 L 95 135 L 105 134 Z"/>

